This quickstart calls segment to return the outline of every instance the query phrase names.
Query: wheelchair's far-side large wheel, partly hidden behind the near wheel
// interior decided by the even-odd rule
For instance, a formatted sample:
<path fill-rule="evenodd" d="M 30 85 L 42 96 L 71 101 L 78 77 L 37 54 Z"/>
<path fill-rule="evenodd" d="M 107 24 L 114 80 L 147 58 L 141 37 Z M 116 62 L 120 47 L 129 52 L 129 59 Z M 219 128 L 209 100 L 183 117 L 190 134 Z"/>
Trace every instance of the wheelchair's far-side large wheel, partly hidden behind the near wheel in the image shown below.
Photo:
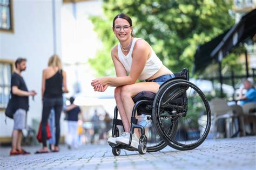
<path fill-rule="evenodd" d="M 142 125 L 145 129 L 145 136 L 147 137 L 147 152 L 157 152 L 165 148 L 167 144 L 156 132 L 152 123 L 152 115 L 142 114 L 137 118 L 138 124 Z"/>

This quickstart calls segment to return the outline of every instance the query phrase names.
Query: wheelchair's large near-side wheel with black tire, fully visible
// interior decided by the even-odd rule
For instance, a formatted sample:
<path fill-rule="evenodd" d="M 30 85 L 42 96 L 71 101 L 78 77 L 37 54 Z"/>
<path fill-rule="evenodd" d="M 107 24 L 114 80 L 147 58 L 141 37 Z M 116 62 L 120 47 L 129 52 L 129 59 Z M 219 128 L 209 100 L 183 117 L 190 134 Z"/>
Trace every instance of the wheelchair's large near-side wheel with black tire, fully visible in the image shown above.
<path fill-rule="evenodd" d="M 198 147 L 211 126 L 211 110 L 205 95 L 196 85 L 181 79 L 166 82 L 159 89 L 152 116 L 161 139 L 177 150 Z"/>

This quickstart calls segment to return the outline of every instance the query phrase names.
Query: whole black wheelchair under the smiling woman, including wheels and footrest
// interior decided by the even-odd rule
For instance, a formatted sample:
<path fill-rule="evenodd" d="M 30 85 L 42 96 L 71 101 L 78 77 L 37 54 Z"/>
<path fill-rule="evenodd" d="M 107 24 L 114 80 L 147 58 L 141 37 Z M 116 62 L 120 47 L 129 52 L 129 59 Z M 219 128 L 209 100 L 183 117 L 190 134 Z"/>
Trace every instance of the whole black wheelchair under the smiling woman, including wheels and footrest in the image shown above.
<path fill-rule="evenodd" d="M 134 128 L 140 130 L 138 151 L 157 152 L 167 145 L 177 150 L 192 150 L 206 139 L 211 126 L 211 110 L 203 92 L 189 81 L 184 68 L 176 77 L 164 82 L 158 93 L 142 91 L 134 96 L 128 145 L 110 144 L 113 155 L 122 149 L 132 150 Z M 136 118 L 137 112 L 137 118 Z M 112 137 L 119 137 L 123 123 L 114 108 Z"/>

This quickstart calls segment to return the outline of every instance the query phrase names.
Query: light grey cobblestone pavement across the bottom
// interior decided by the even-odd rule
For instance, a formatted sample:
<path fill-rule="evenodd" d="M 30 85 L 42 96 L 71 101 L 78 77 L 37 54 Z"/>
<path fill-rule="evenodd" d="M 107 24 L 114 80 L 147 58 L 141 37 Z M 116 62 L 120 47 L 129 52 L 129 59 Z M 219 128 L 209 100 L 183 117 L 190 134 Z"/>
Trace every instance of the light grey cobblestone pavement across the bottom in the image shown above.
<path fill-rule="evenodd" d="M 24 147 L 35 152 L 39 147 Z M 256 169 L 256 136 L 208 139 L 191 151 L 164 150 L 140 155 L 122 150 L 117 157 L 108 145 L 85 145 L 77 150 L 60 146 L 58 153 L 9 156 L 0 147 L 0 169 Z"/>

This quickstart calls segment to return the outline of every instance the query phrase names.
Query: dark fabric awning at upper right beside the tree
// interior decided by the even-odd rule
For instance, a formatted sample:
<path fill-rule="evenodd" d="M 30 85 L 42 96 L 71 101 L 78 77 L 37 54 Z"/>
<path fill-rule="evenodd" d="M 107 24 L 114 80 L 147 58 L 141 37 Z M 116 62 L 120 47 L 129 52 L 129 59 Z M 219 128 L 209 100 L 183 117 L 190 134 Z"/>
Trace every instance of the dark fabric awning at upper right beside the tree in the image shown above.
<path fill-rule="evenodd" d="M 194 72 L 203 71 L 213 59 L 221 61 L 231 49 L 256 34 L 256 9 L 247 13 L 230 30 L 199 46 L 194 55 Z"/>

